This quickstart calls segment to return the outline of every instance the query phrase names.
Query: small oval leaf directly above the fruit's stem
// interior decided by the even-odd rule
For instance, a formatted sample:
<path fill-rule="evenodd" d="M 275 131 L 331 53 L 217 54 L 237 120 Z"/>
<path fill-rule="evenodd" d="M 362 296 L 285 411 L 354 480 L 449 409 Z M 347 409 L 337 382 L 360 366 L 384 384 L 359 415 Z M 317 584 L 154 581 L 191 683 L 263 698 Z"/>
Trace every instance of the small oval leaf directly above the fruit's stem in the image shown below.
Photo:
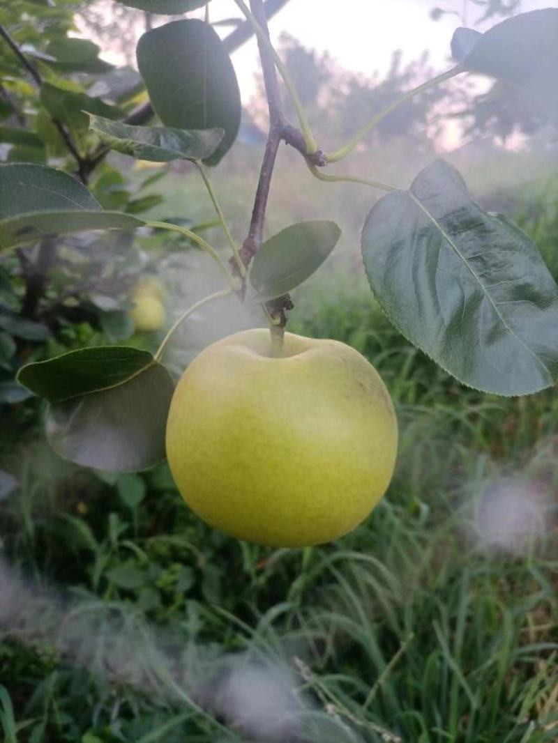
<path fill-rule="evenodd" d="M 252 299 L 264 301 L 291 291 L 314 273 L 336 247 L 341 230 L 335 222 L 292 224 L 263 243 L 250 267 Z"/>

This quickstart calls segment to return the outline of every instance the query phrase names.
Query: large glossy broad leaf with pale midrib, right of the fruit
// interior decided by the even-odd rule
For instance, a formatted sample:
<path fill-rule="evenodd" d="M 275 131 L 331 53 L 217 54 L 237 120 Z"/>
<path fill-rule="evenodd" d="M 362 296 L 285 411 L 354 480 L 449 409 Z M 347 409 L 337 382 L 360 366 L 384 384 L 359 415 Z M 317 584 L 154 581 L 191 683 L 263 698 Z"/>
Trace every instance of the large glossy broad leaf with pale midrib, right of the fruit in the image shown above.
<path fill-rule="evenodd" d="M 437 160 L 372 208 L 362 254 L 403 335 L 464 384 L 527 395 L 558 374 L 558 287 L 516 225 L 481 210 Z"/>

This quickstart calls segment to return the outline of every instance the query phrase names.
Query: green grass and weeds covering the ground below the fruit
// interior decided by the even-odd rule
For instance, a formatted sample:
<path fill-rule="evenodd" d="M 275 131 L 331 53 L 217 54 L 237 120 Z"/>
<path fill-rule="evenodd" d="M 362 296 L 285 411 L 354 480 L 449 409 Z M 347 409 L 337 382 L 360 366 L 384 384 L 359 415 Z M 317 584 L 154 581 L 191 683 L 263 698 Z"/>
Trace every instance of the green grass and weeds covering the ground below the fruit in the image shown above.
<path fill-rule="evenodd" d="M 525 226 L 556 275 L 558 221 Z M 388 496 L 333 545 L 271 550 L 205 527 L 164 466 L 95 476 L 39 434 L 12 447 L 2 467 L 22 485 L 0 533 L 25 580 L 0 643 L 6 743 L 558 739 L 554 390 L 464 389 L 350 270 L 312 282 L 291 325 L 350 343 L 388 384 L 401 429 Z M 502 489 L 542 504 L 547 528 L 521 550 L 517 533 L 489 548 Z M 297 723 L 273 737 L 285 710 Z"/>

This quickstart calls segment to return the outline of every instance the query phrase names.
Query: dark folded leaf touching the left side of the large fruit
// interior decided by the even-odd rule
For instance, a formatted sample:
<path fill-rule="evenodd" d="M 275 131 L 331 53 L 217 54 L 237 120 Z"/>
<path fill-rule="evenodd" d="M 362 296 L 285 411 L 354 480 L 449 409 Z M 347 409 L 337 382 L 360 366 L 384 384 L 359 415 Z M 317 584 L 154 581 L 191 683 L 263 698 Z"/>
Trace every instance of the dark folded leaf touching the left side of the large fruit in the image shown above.
<path fill-rule="evenodd" d="M 164 459 L 173 380 L 147 351 L 83 348 L 24 366 L 17 378 L 51 403 L 47 437 L 63 458 L 108 472 Z"/>

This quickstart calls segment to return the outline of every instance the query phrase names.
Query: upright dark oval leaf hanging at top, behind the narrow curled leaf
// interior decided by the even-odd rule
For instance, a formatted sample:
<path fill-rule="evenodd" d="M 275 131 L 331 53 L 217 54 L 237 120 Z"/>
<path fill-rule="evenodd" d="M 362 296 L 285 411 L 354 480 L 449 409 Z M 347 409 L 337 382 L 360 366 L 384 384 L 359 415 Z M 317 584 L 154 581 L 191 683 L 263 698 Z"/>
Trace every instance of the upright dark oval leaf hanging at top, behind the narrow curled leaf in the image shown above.
<path fill-rule="evenodd" d="M 217 164 L 237 137 L 241 114 L 237 76 L 217 33 L 196 19 L 167 23 L 141 36 L 137 56 L 165 126 L 225 131 L 217 150 L 205 158 Z"/>

